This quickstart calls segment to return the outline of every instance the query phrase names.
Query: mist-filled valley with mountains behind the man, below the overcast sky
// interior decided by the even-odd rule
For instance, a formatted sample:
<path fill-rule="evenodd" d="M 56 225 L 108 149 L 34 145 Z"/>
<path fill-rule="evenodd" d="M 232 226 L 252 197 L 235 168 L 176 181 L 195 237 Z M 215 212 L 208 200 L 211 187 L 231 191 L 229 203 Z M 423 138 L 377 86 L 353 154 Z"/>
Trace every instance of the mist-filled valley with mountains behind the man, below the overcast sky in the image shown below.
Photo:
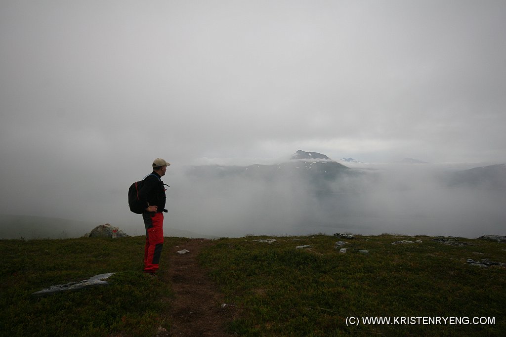
<path fill-rule="evenodd" d="M 502 235 L 506 165 L 462 167 L 335 161 L 302 150 L 276 164 L 176 165 L 163 177 L 171 186 L 165 235 Z M 62 185 L 64 198 L 31 195 L 27 212 L 1 212 L 0 237 L 76 237 L 105 223 L 144 235 L 126 202 L 129 179 Z"/>

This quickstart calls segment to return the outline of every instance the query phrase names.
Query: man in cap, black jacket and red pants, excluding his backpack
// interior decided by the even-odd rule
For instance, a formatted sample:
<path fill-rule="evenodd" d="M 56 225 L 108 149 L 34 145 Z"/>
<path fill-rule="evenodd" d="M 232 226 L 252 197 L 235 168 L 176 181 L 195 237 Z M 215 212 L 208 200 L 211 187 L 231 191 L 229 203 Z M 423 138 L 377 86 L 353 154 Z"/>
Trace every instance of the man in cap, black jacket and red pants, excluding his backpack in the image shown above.
<path fill-rule="evenodd" d="M 171 164 L 164 159 L 153 160 L 153 172 L 144 179 L 139 190 L 139 200 L 144 204 L 144 226 L 146 227 L 146 245 L 144 247 L 144 272 L 155 276 L 159 268 L 163 247 L 163 212 L 165 209 L 165 187 L 161 177 Z"/>

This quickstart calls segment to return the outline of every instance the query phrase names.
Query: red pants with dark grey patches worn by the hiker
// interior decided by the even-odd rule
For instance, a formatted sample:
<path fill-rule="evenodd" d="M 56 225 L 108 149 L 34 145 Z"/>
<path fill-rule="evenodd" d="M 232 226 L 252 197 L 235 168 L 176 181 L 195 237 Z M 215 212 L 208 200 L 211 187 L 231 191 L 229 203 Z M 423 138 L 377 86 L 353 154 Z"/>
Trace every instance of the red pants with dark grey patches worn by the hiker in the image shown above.
<path fill-rule="evenodd" d="M 163 213 L 143 213 L 142 218 L 146 226 L 144 272 L 154 273 L 158 270 L 163 247 Z"/>

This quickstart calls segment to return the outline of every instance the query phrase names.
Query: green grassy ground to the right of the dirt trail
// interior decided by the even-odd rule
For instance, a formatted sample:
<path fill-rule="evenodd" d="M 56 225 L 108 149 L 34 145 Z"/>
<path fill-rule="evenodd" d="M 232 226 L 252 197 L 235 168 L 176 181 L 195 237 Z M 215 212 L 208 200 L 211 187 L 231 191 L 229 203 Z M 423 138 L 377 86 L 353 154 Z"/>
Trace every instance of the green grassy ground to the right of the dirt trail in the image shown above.
<path fill-rule="evenodd" d="M 230 329 L 240 335 L 500 335 L 506 268 L 480 268 L 468 258 L 506 262 L 506 245 L 460 239 L 449 246 L 429 237 L 356 236 L 342 254 L 332 236 L 221 239 L 200 262 L 228 303 L 243 310 Z M 421 239 L 423 243 L 398 244 Z M 295 249 L 297 245 L 309 249 Z M 362 254 L 358 250 L 369 250 Z M 347 326 L 347 317 L 495 317 L 491 325 L 375 324 Z"/>

